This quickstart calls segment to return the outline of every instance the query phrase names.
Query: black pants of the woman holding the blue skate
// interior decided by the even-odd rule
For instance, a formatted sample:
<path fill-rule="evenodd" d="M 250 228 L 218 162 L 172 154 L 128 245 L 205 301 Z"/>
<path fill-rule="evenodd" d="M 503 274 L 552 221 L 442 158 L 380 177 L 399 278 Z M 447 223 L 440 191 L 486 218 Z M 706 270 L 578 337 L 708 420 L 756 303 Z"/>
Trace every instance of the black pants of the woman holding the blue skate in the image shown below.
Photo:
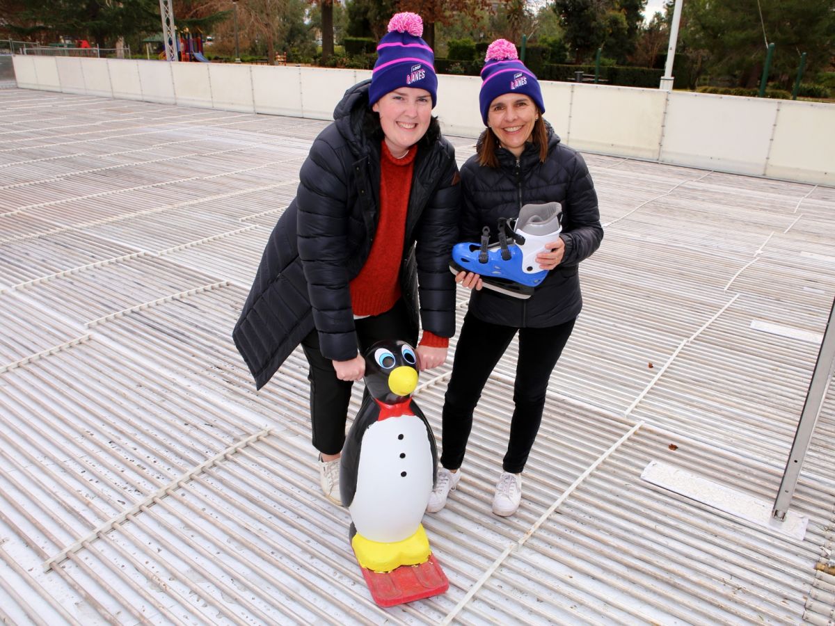
<path fill-rule="evenodd" d="M 551 371 L 573 329 L 574 320 L 548 328 L 517 329 L 488 324 L 467 314 L 455 348 L 453 373 L 443 402 L 443 467 L 449 470 L 461 467 L 473 428 L 473 409 L 478 404 L 490 372 L 519 331 L 515 406 L 510 421 L 508 451 L 502 467 L 505 472 L 522 472 L 542 422 Z"/>

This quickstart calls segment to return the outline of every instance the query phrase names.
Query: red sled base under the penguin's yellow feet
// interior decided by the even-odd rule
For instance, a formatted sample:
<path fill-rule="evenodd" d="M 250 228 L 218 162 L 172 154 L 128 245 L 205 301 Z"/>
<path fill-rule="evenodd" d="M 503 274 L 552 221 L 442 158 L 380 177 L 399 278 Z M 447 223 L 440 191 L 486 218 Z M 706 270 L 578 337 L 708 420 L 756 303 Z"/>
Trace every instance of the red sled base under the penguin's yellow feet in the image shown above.
<path fill-rule="evenodd" d="M 447 575 L 433 554 L 420 565 L 401 565 L 391 572 L 378 573 L 360 567 L 374 602 L 381 607 L 432 598 L 449 588 Z"/>

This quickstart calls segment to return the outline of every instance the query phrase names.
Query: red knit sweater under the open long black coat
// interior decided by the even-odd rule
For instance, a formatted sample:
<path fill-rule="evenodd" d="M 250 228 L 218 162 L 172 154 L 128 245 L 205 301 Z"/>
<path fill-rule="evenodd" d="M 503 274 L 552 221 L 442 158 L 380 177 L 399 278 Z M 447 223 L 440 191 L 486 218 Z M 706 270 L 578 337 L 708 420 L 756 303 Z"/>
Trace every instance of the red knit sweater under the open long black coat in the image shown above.
<path fill-rule="evenodd" d="M 380 220 L 377 234 L 365 265 L 349 285 L 355 316 L 385 313 L 401 295 L 398 275 L 417 148 L 412 146 L 405 157 L 395 159 L 383 141 L 380 153 Z M 423 331 L 420 345 L 445 348 L 449 340 Z"/>

